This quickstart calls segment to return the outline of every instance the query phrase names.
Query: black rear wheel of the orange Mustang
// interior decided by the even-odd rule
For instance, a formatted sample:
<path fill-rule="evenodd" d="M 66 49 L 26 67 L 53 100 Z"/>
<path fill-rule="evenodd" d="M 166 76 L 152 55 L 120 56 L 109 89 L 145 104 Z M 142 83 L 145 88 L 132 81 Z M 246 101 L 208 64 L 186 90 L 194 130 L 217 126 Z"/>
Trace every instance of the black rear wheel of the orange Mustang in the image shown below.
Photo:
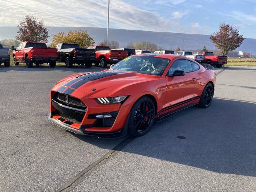
<path fill-rule="evenodd" d="M 200 98 L 199 106 L 202 108 L 208 108 L 212 103 L 213 95 L 214 95 L 213 85 L 211 83 L 206 84 Z"/>

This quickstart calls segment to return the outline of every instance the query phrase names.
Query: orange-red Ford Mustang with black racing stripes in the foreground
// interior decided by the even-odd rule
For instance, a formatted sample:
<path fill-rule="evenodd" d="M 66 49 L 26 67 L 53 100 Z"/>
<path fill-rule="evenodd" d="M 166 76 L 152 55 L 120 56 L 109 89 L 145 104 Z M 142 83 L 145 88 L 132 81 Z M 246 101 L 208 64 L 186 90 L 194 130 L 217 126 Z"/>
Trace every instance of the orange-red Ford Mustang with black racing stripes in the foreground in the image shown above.
<path fill-rule="evenodd" d="M 76 134 L 142 136 L 178 110 L 210 106 L 215 80 L 211 66 L 189 58 L 134 55 L 109 70 L 72 74 L 57 82 L 48 120 Z"/>

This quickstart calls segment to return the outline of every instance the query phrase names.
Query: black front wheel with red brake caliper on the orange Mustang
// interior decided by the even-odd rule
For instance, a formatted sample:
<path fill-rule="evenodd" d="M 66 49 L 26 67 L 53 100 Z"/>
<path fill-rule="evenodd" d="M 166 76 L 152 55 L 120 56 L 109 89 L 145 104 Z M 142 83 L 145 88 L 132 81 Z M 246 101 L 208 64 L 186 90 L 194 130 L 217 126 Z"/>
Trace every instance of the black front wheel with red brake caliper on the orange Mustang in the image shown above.
<path fill-rule="evenodd" d="M 145 96 L 137 100 L 128 116 L 128 132 L 133 136 L 147 134 L 154 123 L 155 113 L 152 99 Z"/>

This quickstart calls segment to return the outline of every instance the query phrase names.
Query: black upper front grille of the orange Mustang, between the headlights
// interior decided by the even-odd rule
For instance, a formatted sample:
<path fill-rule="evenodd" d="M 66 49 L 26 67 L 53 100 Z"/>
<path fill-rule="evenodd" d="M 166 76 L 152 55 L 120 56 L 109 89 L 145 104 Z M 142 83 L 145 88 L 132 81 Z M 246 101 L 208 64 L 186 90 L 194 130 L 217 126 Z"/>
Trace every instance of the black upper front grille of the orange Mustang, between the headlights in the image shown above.
<path fill-rule="evenodd" d="M 56 93 L 54 99 L 57 99 L 63 105 L 78 108 L 78 109 L 86 109 L 86 105 L 78 98 L 72 97 L 70 95 Z"/>

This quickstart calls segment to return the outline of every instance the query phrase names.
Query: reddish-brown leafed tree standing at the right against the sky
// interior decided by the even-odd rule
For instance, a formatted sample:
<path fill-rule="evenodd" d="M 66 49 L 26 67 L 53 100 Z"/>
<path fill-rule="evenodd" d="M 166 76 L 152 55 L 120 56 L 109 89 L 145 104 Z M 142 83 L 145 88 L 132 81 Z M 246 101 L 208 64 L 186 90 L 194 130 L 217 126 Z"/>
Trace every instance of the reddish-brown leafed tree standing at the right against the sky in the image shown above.
<path fill-rule="evenodd" d="M 239 27 L 233 27 L 225 22 L 220 24 L 219 31 L 211 34 L 209 38 L 222 51 L 223 56 L 228 54 L 228 51 L 240 47 L 245 39 L 243 35 L 239 34 Z"/>

